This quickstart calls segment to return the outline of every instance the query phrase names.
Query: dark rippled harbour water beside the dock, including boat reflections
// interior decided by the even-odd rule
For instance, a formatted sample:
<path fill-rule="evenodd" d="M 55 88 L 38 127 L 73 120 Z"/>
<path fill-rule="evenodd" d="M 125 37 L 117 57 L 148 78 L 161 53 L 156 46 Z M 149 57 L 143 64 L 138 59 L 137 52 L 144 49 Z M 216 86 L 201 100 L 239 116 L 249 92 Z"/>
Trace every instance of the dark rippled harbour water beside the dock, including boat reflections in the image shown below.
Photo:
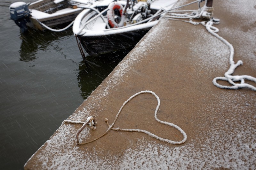
<path fill-rule="evenodd" d="M 0 169 L 23 169 L 124 57 L 86 64 L 72 29 L 21 34 L 9 19 L 13 2 L 0 2 Z"/>

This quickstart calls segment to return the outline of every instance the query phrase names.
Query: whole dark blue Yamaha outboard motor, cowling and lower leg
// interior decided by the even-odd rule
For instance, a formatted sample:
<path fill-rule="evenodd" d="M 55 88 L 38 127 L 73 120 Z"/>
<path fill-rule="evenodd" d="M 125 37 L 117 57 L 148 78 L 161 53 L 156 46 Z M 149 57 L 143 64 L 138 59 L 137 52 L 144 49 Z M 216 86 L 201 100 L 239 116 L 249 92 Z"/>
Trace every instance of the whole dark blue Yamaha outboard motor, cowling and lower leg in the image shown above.
<path fill-rule="evenodd" d="M 26 23 L 30 22 L 28 18 L 30 15 L 28 4 L 25 2 L 15 2 L 11 4 L 10 15 L 15 24 L 20 27 L 22 33 L 28 29 L 26 26 Z"/>

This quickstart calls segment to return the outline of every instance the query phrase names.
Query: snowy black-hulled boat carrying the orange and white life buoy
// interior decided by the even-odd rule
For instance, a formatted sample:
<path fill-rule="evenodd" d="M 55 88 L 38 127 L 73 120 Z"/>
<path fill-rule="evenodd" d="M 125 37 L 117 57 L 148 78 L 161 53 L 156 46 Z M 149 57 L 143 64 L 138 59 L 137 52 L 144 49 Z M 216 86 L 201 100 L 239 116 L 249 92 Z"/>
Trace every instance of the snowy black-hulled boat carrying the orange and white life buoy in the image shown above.
<path fill-rule="evenodd" d="M 120 0 L 105 10 L 82 11 L 75 19 L 73 33 L 82 56 L 112 52 L 128 53 L 155 26 L 160 14 L 177 0 Z M 80 42 L 79 42 L 80 41 Z"/>

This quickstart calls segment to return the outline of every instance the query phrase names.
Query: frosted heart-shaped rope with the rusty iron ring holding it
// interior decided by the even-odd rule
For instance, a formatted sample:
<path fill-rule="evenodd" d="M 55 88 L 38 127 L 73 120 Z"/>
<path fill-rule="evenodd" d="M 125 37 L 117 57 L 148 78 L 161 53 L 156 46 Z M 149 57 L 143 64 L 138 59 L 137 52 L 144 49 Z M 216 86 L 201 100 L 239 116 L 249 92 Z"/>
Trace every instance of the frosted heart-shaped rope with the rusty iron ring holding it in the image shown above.
<path fill-rule="evenodd" d="M 183 135 L 183 139 L 182 139 L 181 141 L 172 141 L 172 140 L 169 140 L 169 139 L 165 139 L 165 138 L 162 138 L 162 137 L 158 137 L 158 136 L 156 136 L 155 134 L 150 133 L 150 132 L 147 131 L 147 130 L 142 130 L 142 129 L 121 129 L 121 128 L 119 128 L 119 127 L 118 127 L 118 128 L 113 128 L 113 126 L 114 126 L 114 124 L 116 123 L 116 120 L 117 120 L 118 116 L 120 115 L 120 113 L 121 113 L 122 109 L 124 108 L 124 106 L 125 106 L 130 100 L 132 100 L 134 97 L 136 97 L 136 96 L 138 96 L 138 95 L 140 95 L 140 94 L 142 94 L 142 93 L 151 93 L 152 95 L 154 95 L 154 96 L 156 97 L 156 99 L 157 99 L 157 106 L 156 106 L 155 115 L 154 115 L 156 121 L 159 122 L 159 123 L 168 125 L 168 126 L 172 126 L 172 127 L 175 128 L 175 129 L 178 129 L 178 130 L 180 131 L 180 133 Z M 76 144 L 78 144 L 78 145 L 88 144 L 88 143 L 91 143 L 91 142 L 93 142 L 93 141 L 96 141 L 97 139 L 99 139 L 99 138 L 103 137 L 104 135 L 106 135 L 106 134 L 109 132 L 110 129 L 116 130 L 116 131 L 143 132 L 143 133 L 145 133 L 145 134 L 147 134 L 147 135 L 149 135 L 149 136 L 151 136 L 151 137 L 156 138 L 157 140 L 160 140 L 160 141 L 163 141 L 163 142 L 167 142 L 167 143 L 169 143 L 169 144 L 183 144 L 183 143 L 185 143 L 186 140 L 187 140 L 187 135 L 186 135 L 186 133 L 184 132 L 184 130 L 182 130 L 179 126 L 177 126 L 177 125 L 175 125 L 175 124 L 173 124 L 173 123 L 164 122 L 164 121 L 161 121 L 161 120 L 159 120 L 159 119 L 157 118 L 157 111 L 158 111 L 159 107 L 160 107 L 160 99 L 159 99 L 159 97 L 158 97 L 154 92 L 148 91 L 148 90 L 138 92 L 138 93 L 132 95 L 128 100 L 126 100 L 126 101 L 124 102 L 124 104 L 122 105 L 122 107 L 119 109 L 119 111 L 118 111 L 118 113 L 117 113 L 117 115 L 116 115 L 116 118 L 115 118 L 114 122 L 113 122 L 111 125 L 109 125 L 108 119 L 105 119 L 105 121 L 107 122 L 107 125 L 108 125 L 108 129 L 107 129 L 107 131 L 106 131 L 104 134 L 102 134 L 100 137 L 97 137 L 97 138 L 95 138 L 95 139 L 93 139 L 93 140 L 91 140 L 91 141 L 84 142 L 84 143 L 79 143 L 79 139 L 78 139 L 79 133 L 80 133 L 80 132 L 84 129 L 84 127 L 85 127 L 86 125 L 88 125 L 88 124 L 90 124 L 91 129 L 96 129 L 96 127 L 95 127 L 96 122 L 95 122 L 94 117 L 92 117 L 92 116 L 88 117 L 86 122 L 76 122 L 76 121 L 71 121 L 71 120 L 65 120 L 65 121 L 63 121 L 63 123 L 83 124 L 82 128 L 80 128 L 79 131 L 78 131 L 77 134 L 76 134 Z"/>

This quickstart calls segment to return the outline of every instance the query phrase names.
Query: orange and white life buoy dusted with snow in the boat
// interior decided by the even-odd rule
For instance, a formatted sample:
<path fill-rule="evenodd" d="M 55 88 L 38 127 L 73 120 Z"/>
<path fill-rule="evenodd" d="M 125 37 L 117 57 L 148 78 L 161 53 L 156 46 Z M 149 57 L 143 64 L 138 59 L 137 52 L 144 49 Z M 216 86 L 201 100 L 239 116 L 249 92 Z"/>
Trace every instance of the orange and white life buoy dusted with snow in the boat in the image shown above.
<path fill-rule="evenodd" d="M 108 23 L 112 28 L 117 28 L 124 26 L 124 15 L 123 15 L 123 6 L 119 4 L 118 2 L 112 2 L 108 5 L 108 11 L 107 11 L 107 17 L 108 17 Z M 119 23 L 115 21 L 115 13 L 114 10 L 118 10 L 121 16 L 121 20 Z"/>

